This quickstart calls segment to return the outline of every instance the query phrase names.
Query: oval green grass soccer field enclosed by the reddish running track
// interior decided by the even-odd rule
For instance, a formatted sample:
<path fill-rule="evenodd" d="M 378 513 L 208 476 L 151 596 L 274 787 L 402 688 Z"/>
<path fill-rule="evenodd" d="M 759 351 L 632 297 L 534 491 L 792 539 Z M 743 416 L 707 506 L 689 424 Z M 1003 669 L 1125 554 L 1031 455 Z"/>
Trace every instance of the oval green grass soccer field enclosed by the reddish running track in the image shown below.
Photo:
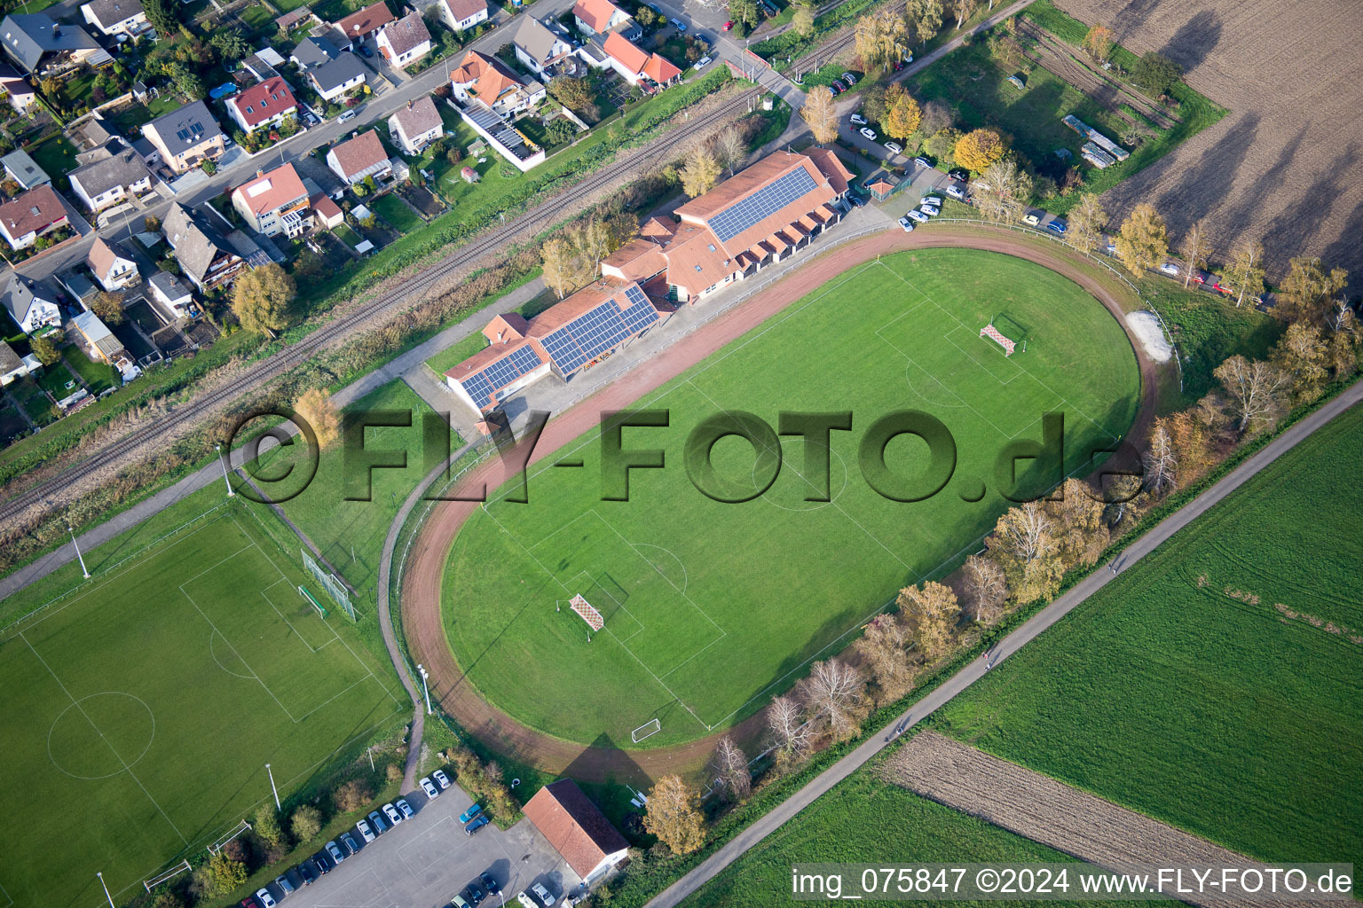
<path fill-rule="evenodd" d="M 999 314 L 1025 325 L 1026 353 L 979 336 Z M 668 408 L 669 427 L 626 429 L 624 448 L 662 448 L 667 468 L 632 471 L 630 501 L 601 500 L 589 433 L 532 470 L 529 505 L 495 496 L 480 509 L 443 579 L 454 656 L 491 702 L 570 741 L 630 746 L 652 719 L 661 730 L 642 746 L 705 735 L 837 652 L 901 587 L 977 550 L 1009 504 L 995 460 L 1011 440 L 1040 441 L 1044 412 L 1065 414 L 1065 470 L 1085 472 L 1131 423 L 1138 385 L 1120 325 L 1040 265 L 960 249 L 867 263 L 638 403 Z M 762 497 L 701 494 L 687 433 L 733 410 L 771 426 L 780 411 L 853 411 L 852 432 L 830 437 L 831 501 L 807 501 L 825 478 L 800 437 L 781 440 Z M 925 501 L 882 497 L 857 466 L 866 429 L 897 410 L 932 414 L 955 441 L 954 478 Z M 743 440 L 713 453 L 721 476 L 761 470 Z M 917 440 L 886 448 L 897 474 L 925 460 Z M 575 594 L 605 617 L 590 643 Z"/>

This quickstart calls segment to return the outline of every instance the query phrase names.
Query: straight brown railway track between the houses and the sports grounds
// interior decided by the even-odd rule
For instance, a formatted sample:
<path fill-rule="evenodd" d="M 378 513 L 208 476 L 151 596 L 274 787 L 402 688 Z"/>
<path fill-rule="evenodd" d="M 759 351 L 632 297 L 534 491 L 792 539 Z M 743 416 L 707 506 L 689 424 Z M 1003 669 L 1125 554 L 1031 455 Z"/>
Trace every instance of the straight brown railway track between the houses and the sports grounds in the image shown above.
<path fill-rule="evenodd" d="M 31 486 L 8 498 L 0 504 L 0 521 L 12 520 L 34 505 L 50 501 L 60 490 L 70 487 L 76 481 L 108 466 L 117 464 L 124 456 L 153 441 L 158 436 L 164 436 L 168 429 L 200 417 L 206 417 L 243 393 L 256 389 L 267 381 L 279 377 L 290 368 L 307 359 L 309 355 L 323 350 L 331 342 L 345 336 L 358 325 L 363 325 L 375 314 L 386 309 L 402 306 L 403 304 L 414 304 L 420 301 L 424 293 L 436 286 L 446 276 L 474 264 L 481 257 L 500 248 L 504 248 L 507 241 L 526 229 L 541 229 L 563 219 L 575 201 L 587 199 L 593 192 L 612 185 L 632 173 L 638 173 L 647 165 L 667 157 L 679 140 L 686 140 L 709 129 L 717 123 L 732 117 L 736 112 L 744 109 L 759 95 L 759 88 L 748 88 L 747 91 L 743 91 L 724 102 L 714 110 L 688 118 L 683 123 L 683 125 L 676 127 L 656 139 L 643 154 L 631 157 L 627 161 L 612 163 L 586 180 L 574 184 L 566 192 L 541 201 L 519 218 L 508 221 L 506 225 L 499 225 L 496 229 L 477 236 L 472 242 L 461 246 L 457 252 L 413 276 L 402 286 L 380 294 L 373 299 L 361 304 L 354 310 L 326 323 L 298 343 L 290 344 L 289 347 L 285 347 L 284 350 L 255 363 L 222 388 L 196 396 L 188 404 L 179 407 L 164 417 L 153 419 L 147 425 L 135 429 L 127 436 L 90 455 L 85 460 L 67 467 L 45 482 Z"/>

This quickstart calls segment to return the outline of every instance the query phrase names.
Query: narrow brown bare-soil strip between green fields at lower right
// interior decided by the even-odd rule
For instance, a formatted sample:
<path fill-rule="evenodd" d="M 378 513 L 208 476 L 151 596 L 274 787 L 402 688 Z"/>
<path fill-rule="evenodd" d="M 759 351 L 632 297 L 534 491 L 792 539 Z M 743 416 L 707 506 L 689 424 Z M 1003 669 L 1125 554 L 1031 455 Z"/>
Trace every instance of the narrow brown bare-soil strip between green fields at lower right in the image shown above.
<path fill-rule="evenodd" d="M 1111 870 L 1266 866 L 934 731 L 905 743 L 879 775 L 930 800 Z M 1220 893 L 1180 898 L 1217 908 L 1231 904 Z M 1300 908 L 1307 903 L 1265 898 L 1255 904 Z"/>

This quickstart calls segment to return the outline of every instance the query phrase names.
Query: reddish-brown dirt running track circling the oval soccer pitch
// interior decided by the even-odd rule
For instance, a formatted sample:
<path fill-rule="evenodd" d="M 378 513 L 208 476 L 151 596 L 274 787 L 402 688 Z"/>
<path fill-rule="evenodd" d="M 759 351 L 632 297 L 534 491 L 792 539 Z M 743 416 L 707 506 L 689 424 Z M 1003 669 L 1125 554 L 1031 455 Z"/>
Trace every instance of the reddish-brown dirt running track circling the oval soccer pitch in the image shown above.
<path fill-rule="evenodd" d="M 639 363 L 638 368 L 600 393 L 557 414 L 545 426 L 532 463 L 553 455 L 560 447 L 594 429 L 600 422 L 601 411 L 627 407 L 844 271 L 879 255 L 938 246 L 1000 252 L 1051 268 L 1070 278 L 1101 301 L 1126 331 L 1124 310 L 1118 299 L 1103 283 L 1059 250 L 1047 249 L 1036 241 L 1026 241 L 1017 233 L 1007 230 L 947 227 L 945 225 L 916 230 L 910 234 L 897 229 L 886 230 L 812 259 L 803 268 L 773 285 L 766 293 L 680 339 L 661 355 Z M 1127 336 L 1135 350 L 1141 370 L 1141 407 L 1135 423 L 1127 434 L 1129 437 L 1139 437 L 1144 436 L 1149 422 L 1154 418 L 1156 366 L 1145 355 L 1139 343 L 1130 334 Z M 470 474 L 463 487 L 469 489 L 485 482 L 491 490 L 500 486 L 507 478 L 502 460 L 489 460 Z M 465 683 L 463 674 L 454 662 L 444 634 L 440 614 L 440 581 L 454 538 L 476 506 L 476 502 L 463 501 L 447 501 L 436 505 L 412 546 L 410 562 L 403 574 L 402 628 L 408 636 L 412 658 L 424 663 L 431 671 L 431 697 L 438 698 L 446 713 L 457 719 L 459 724 L 493 750 L 549 772 L 563 772 L 571 766 L 572 775 L 578 779 L 632 780 L 641 773 L 656 779 L 667 772 L 687 772 L 702 765 L 714 749 L 716 738 L 722 732 L 668 749 L 626 751 L 589 747 L 549 736 L 521 724 L 484 700 L 472 685 Z M 762 713 L 758 712 L 729 731 L 740 741 L 748 741 L 756 736 L 761 724 Z"/>

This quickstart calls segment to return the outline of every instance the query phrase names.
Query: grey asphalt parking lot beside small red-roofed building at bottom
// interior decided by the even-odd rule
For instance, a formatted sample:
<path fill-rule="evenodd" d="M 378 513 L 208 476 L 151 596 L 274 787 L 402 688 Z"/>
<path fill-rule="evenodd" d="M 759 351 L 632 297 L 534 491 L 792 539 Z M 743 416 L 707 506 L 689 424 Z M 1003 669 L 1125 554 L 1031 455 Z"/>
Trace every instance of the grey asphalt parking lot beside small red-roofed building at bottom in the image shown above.
<path fill-rule="evenodd" d="M 532 882 L 542 882 L 562 900 L 581 882 L 578 875 L 529 821 L 507 832 L 496 825 L 463 834 L 459 814 L 473 803 L 458 785 L 435 800 L 421 792 L 403 795 L 416 817 L 365 844 L 354 828 L 360 851 L 341 866 L 281 901 L 282 908 L 444 908 L 478 874 L 488 871 L 502 886 L 502 897 Z M 270 890 L 279 897 L 278 888 Z M 489 896 L 484 905 L 502 905 Z"/>

